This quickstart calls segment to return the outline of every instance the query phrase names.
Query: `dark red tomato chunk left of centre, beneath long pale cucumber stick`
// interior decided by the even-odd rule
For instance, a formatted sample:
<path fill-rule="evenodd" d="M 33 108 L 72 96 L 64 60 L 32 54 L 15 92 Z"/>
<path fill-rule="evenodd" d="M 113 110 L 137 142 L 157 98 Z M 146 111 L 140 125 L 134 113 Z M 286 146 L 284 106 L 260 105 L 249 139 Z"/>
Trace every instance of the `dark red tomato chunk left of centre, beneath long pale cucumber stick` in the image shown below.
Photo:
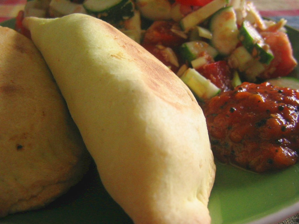
<path fill-rule="evenodd" d="M 176 33 L 177 30 L 177 33 Z M 174 21 L 155 21 L 145 31 L 143 43 L 144 44 L 161 44 L 165 47 L 178 47 L 184 42 L 186 38 L 181 36 L 182 31 L 179 25 Z"/>

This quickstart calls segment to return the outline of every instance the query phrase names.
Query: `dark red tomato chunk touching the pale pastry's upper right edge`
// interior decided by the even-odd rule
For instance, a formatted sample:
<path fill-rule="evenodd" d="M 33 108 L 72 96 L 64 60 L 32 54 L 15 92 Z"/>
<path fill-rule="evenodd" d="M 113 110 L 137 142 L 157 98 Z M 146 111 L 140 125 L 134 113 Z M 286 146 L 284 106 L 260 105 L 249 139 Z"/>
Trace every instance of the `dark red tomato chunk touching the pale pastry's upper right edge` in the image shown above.
<path fill-rule="evenodd" d="M 163 51 L 163 46 L 155 44 L 143 44 L 142 45 L 149 53 L 159 59 L 164 65 L 169 67 L 174 73 L 179 70 L 179 67 L 170 62 L 169 56 Z"/>

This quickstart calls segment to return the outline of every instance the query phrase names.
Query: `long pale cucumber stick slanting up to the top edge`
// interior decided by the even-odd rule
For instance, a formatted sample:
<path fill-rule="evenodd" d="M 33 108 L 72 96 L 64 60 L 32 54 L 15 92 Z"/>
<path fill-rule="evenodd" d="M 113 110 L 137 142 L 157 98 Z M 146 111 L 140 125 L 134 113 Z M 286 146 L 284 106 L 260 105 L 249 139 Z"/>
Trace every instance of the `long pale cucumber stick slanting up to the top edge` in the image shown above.
<path fill-rule="evenodd" d="M 227 0 L 213 0 L 198 10 L 188 14 L 180 21 L 182 30 L 190 30 L 192 27 L 200 24 L 222 7 L 225 7 L 227 3 Z"/>

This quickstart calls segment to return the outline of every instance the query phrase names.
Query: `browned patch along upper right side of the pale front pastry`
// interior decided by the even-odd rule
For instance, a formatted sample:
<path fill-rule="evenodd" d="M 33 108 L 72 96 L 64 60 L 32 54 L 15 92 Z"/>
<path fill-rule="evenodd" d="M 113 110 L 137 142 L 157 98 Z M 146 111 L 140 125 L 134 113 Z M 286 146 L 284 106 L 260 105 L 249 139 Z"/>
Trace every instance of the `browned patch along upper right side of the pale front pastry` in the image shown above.
<path fill-rule="evenodd" d="M 189 101 L 186 101 L 186 92 L 189 97 L 195 102 L 197 108 L 197 102 L 193 94 L 190 92 L 186 85 L 181 85 L 173 72 L 165 66 L 161 66 L 161 62 L 154 56 L 150 55 L 140 45 L 133 41 L 128 41 L 127 37 L 120 35 L 118 30 L 114 29 L 110 24 L 97 21 L 98 25 L 106 29 L 109 35 L 114 36 L 115 44 L 119 45 L 126 51 L 126 57 L 120 52 L 112 57 L 118 59 L 129 60 L 143 71 L 143 75 L 140 76 L 144 79 L 147 86 L 161 99 L 170 103 L 176 107 L 179 104 L 187 105 Z M 174 84 L 175 83 L 175 84 Z"/>

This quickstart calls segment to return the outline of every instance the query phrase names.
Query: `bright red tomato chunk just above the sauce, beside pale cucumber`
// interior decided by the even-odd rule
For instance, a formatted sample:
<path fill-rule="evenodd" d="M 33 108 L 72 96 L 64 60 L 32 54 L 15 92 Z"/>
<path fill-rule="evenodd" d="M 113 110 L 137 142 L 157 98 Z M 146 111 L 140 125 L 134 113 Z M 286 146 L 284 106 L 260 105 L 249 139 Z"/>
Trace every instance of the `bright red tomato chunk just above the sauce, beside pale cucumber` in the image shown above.
<path fill-rule="evenodd" d="M 208 63 L 200 68 L 196 69 L 202 76 L 210 79 L 222 91 L 228 91 L 232 89 L 231 86 L 231 72 L 226 61 L 218 61 Z"/>

